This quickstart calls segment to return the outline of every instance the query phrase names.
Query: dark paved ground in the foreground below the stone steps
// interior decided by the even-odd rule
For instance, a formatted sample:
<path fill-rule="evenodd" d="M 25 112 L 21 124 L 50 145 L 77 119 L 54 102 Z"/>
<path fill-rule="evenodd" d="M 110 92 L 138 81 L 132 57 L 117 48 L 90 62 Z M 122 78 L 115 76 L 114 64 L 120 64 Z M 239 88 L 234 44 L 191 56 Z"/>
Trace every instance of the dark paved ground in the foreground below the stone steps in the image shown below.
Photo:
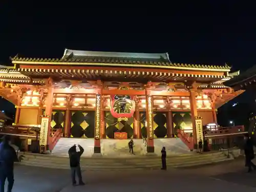
<path fill-rule="evenodd" d="M 85 186 L 71 186 L 69 170 L 15 167 L 14 192 L 71 191 L 156 191 L 179 190 L 211 192 L 255 191 L 256 172 L 246 173 L 244 162 L 238 159 L 217 165 L 186 169 L 130 170 L 129 172 L 84 172 Z M 75 189 L 75 190 L 74 190 Z"/>

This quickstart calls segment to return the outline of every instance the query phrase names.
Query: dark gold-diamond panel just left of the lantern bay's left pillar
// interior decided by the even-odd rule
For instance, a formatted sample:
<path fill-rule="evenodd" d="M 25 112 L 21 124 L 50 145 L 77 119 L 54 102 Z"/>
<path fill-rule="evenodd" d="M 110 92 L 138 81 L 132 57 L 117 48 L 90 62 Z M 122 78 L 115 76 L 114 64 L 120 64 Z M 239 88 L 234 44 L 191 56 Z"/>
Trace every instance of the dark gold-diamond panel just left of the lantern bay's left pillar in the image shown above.
<path fill-rule="evenodd" d="M 93 138 L 94 126 L 94 111 L 73 111 L 71 113 L 71 137 Z"/>

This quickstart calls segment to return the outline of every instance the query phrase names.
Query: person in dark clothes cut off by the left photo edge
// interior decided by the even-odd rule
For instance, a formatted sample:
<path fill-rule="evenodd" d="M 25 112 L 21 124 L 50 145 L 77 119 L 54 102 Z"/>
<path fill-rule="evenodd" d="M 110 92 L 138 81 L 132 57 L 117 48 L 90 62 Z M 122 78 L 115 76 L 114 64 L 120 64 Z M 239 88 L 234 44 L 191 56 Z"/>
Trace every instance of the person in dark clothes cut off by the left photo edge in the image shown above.
<path fill-rule="evenodd" d="M 0 192 L 5 191 L 5 181 L 8 180 L 8 192 L 12 191 L 14 184 L 13 167 L 18 161 L 14 148 L 10 145 L 11 137 L 6 135 L 0 144 Z"/>

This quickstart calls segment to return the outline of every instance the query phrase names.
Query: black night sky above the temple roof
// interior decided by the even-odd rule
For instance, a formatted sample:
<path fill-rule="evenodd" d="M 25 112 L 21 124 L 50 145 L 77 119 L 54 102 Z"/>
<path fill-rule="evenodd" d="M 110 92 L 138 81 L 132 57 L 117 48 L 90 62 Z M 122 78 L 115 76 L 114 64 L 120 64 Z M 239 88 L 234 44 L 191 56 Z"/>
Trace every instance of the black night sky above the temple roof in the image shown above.
<path fill-rule="evenodd" d="M 215 3 L 184 3 L 179 8 L 162 4 L 154 9 L 7 3 L 0 8 L 0 63 L 10 65 L 9 57 L 17 53 L 61 57 L 68 48 L 168 52 L 172 62 L 227 62 L 234 71 L 253 66 L 256 17 L 249 15 L 249 6 L 240 1 L 209 2 Z"/>

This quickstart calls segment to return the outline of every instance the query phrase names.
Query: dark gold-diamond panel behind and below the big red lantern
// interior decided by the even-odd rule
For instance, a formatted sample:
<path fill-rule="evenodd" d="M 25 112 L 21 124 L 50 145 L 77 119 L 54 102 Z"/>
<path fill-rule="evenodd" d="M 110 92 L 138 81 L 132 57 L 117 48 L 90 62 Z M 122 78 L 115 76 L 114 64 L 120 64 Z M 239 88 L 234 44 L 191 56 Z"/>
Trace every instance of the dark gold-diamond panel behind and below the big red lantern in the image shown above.
<path fill-rule="evenodd" d="M 110 112 L 105 112 L 106 138 L 114 138 L 115 132 L 126 132 L 128 138 L 133 138 L 133 117 L 128 121 L 119 121 Z"/>

